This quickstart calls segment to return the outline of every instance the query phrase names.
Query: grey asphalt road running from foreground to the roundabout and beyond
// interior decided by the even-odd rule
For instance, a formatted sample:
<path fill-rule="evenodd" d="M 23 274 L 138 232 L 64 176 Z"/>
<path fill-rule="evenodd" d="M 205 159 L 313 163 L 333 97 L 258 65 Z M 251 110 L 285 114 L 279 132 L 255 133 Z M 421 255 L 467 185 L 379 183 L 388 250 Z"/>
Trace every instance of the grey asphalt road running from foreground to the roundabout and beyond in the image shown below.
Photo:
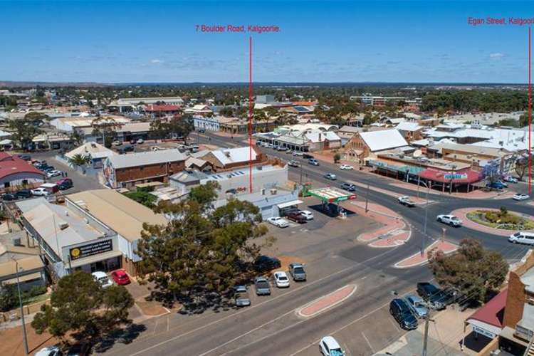
<path fill-rule="evenodd" d="M 220 147 L 242 145 L 234 140 L 210 135 L 198 137 L 200 143 Z M 197 141 L 197 137 L 194 137 Z M 264 149 L 265 150 L 265 149 Z M 268 155 L 283 159 L 295 157 L 273 150 Z M 318 167 L 305 164 L 302 173 L 308 180 L 333 183 L 323 178 L 327 172 L 337 174 L 338 181 L 370 183 L 373 187 L 387 189 L 399 195 L 413 195 L 409 189 L 389 186 L 389 179 L 355 171 L 340 171 L 333 164 L 323 163 Z M 290 169 L 293 180 L 300 178 L 300 168 Z M 370 248 L 355 245 L 342 249 L 333 255 L 325 253 L 314 261 L 310 273 L 315 275 L 306 283 L 293 285 L 288 290 L 276 290 L 271 297 L 254 298 L 253 305 L 242 310 L 206 311 L 203 315 L 169 315 L 145 322 L 147 330 L 127 345 L 116 344 L 110 348 L 113 355 L 318 355 L 318 340 L 325 335 L 334 335 L 347 350 L 347 355 L 372 355 L 402 335 L 392 323 L 386 305 L 393 290 L 404 294 L 413 291 L 418 281 L 431 279 L 426 266 L 397 269 L 392 265 L 412 253 L 420 251 L 422 244 L 442 236 L 446 228 L 446 239 L 460 241 L 466 237 L 482 241 L 486 248 L 503 253 L 508 261 L 516 261 L 525 251 L 525 246 L 509 244 L 506 238 L 461 228 L 450 228 L 436 222 L 437 214 L 445 214 L 467 206 L 499 207 L 530 213 L 531 207 L 509 200 L 468 200 L 431 194 L 431 204 L 409 209 L 399 206 L 397 200 L 380 192 L 364 192 L 370 201 L 398 211 L 407 224 L 412 226 L 412 238 L 407 244 L 396 248 Z M 424 231 L 424 209 L 428 221 Z M 325 249 L 328 246 L 325 245 Z M 295 312 L 306 303 L 333 290 L 357 285 L 357 290 L 342 305 L 304 319 Z"/>

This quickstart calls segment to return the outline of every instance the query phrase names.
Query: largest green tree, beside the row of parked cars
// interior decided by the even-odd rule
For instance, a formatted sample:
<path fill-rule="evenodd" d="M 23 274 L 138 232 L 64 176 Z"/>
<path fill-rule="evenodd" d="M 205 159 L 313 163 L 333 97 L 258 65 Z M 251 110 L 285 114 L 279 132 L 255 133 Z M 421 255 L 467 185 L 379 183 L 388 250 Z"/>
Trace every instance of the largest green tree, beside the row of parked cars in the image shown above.
<path fill-rule="evenodd" d="M 186 309 L 219 304 L 244 273 L 241 262 L 258 256 L 255 239 L 267 232 L 259 209 L 248 201 L 231 199 L 213 209 L 214 189 L 206 185 L 187 200 L 159 204 L 155 211 L 169 216 L 169 223 L 145 224 L 137 245 L 142 276 Z"/>

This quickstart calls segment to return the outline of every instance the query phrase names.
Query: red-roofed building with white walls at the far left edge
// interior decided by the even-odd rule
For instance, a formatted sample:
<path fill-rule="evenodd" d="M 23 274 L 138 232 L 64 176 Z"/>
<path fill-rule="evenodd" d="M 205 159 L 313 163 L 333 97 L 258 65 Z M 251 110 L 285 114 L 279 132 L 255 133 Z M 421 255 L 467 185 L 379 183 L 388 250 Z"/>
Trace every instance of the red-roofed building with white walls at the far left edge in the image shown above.
<path fill-rule="evenodd" d="M 25 160 L 0 152 L 0 187 L 42 183 L 44 174 Z"/>

